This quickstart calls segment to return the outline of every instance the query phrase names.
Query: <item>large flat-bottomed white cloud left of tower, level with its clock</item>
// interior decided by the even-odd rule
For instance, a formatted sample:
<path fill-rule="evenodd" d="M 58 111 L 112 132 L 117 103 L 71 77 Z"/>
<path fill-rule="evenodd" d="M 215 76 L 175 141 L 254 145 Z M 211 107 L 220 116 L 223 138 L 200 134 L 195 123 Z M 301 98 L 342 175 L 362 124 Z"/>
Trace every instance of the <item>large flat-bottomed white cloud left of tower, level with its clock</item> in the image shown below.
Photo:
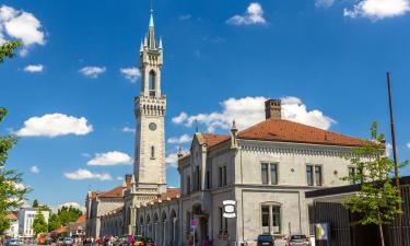
<path fill-rule="evenodd" d="M 63 114 L 46 114 L 24 121 L 24 127 L 16 134 L 21 137 L 49 137 L 66 134 L 87 134 L 93 126 L 84 117 L 77 118 Z"/>

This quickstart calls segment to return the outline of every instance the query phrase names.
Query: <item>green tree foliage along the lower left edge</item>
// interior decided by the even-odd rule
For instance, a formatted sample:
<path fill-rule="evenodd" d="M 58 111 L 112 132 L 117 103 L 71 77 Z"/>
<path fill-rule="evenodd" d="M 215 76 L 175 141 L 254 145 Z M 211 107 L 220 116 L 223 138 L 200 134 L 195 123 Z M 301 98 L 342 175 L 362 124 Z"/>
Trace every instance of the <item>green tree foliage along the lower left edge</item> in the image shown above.
<path fill-rule="evenodd" d="M 0 107 L 0 122 L 7 114 L 8 110 Z M 14 136 L 0 136 L 0 235 L 10 226 L 8 213 L 17 209 L 30 191 L 22 185 L 22 174 L 5 167 L 8 152 L 16 141 L 17 139 Z"/>

